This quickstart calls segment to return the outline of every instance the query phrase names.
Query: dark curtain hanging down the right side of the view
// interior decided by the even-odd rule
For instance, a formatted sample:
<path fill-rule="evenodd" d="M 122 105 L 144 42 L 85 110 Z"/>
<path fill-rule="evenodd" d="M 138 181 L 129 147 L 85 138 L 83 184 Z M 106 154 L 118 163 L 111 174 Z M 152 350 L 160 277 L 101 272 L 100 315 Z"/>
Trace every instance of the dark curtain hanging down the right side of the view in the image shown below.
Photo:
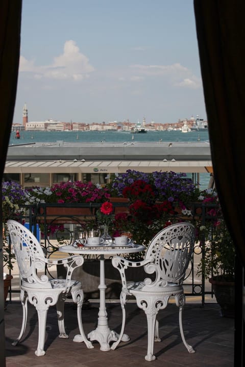
<path fill-rule="evenodd" d="M 244 359 L 245 2 L 194 0 L 213 172 L 236 246 L 235 366 Z"/>

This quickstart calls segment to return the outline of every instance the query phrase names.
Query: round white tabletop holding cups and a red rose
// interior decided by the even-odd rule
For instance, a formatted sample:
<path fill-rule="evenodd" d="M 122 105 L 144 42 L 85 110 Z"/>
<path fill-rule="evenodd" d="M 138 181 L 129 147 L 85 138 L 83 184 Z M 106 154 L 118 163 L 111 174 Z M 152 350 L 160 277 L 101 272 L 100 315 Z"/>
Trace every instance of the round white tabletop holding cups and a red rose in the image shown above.
<path fill-rule="evenodd" d="M 140 252 L 140 251 L 144 251 L 145 247 L 143 245 L 137 245 L 137 244 L 129 244 L 126 246 L 116 246 L 116 245 L 111 245 L 111 246 L 82 246 L 82 247 L 77 247 L 77 246 L 72 246 L 72 245 L 68 245 L 68 246 L 61 246 L 59 247 L 59 251 L 62 252 L 68 252 L 68 253 L 72 253 L 72 254 L 84 254 L 84 255 L 116 255 L 116 254 L 121 254 L 121 253 L 134 253 L 134 252 Z"/>

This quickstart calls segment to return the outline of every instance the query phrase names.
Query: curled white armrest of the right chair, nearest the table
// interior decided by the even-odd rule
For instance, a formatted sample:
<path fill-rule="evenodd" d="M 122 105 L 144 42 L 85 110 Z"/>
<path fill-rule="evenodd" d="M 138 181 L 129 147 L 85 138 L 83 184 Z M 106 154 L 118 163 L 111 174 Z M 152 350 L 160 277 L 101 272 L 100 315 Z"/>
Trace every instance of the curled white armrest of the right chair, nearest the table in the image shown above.
<path fill-rule="evenodd" d="M 126 279 L 126 274 L 125 274 L 125 270 L 128 267 L 131 268 L 140 268 L 146 264 L 152 263 L 152 261 L 154 261 L 154 256 L 150 256 L 148 259 L 142 260 L 142 261 L 130 261 L 122 256 L 114 256 L 112 258 L 112 265 L 114 268 L 116 268 L 121 276 L 121 284 L 122 284 L 122 289 L 124 290 L 124 292 L 129 295 L 129 291 L 128 291 L 128 285 L 127 285 L 127 279 Z"/>

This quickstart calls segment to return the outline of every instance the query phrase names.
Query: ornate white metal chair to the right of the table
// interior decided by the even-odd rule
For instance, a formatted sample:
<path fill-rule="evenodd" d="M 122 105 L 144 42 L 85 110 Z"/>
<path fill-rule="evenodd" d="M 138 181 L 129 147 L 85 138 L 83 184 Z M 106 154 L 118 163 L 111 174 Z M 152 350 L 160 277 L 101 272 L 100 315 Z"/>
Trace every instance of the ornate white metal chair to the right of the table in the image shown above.
<path fill-rule="evenodd" d="M 137 306 L 144 310 L 148 323 L 148 351 L 145 359 L 154 360 L 154 339 L 160 342 L 157 313 L 167 306 L 169 297 L 174 296 L 179 307 L 179 325 L 182 341 L 189 353 L 194 349 L 187 344 L 183 326 L 182 310 L 185 305 L 183 279 L 193 254 L 195 229 L 190 223 L 178 223 L 161 230 L 151 241 L 145 252 L 144 260 L 133 262 L 121 256 L 112 259 L 113 266 L 120 272 L 122 290 L 120 303 L 122 308 L 122 325 L 118 340 L 112 344 L 115 349 L 124 335 L 127 296 L 136 298 Z M 128 267 L 144 267 L 145 273 L 154 274 L 154 280 L 145 278 L 141 282 L 127 284 L 125 270 Z M 155 337 L 155 338 L 154 338 Z"/>

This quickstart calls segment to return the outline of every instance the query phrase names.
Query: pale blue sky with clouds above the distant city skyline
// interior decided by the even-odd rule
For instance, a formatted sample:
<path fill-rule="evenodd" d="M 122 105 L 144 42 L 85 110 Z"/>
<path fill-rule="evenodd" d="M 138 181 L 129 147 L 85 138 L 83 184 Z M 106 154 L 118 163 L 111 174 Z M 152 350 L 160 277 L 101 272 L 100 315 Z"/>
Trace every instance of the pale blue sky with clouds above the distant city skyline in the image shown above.
<path fill-rule="evenodd" d="M 192 0 L 23 0 L 14 123 L 206 119 Z"/>

